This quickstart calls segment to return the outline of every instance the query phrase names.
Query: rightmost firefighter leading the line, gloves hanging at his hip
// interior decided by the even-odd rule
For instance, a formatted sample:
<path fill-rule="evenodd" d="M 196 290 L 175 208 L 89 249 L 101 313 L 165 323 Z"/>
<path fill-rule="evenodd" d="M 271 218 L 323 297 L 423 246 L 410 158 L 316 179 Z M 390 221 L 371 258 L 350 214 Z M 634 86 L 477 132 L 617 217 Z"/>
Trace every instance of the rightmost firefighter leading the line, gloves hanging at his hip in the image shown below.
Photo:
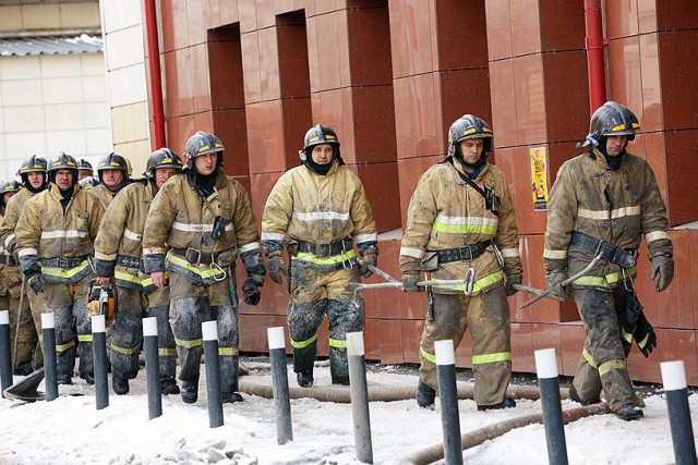
<path fill-rule="evenodd" d="M 569 395 L 582 404 L 600 402 L 603 390 L 611 409 L 622 419 L 641 417 L 628 376 L 621 334 L 636 319 L 639 303 L 634 287 L 637 249 L 645 235 L 657 292 L 674 276 L 666 209 L 654 173 L 642 158 L 627 152 L 640 125 L 624 106 L 607 101 L 591 117 L 587 151 L 566 161 L 557 172 L 547 206 L 543 262 L 550 289 L 563 298 L 561 283 L 600 261 L 571 283 L 587 338 Z M 635 315 L 633 317 L 633 315 Z M 628 318 L 630 317 L 630 318 Z M 635 325 L 631 325 L 635 326 Z M 651 326 L 639 317 L 627 331 L 648 356 L 657 343 Z M 627 351 L 627 352 L 626 352 Z"/>

